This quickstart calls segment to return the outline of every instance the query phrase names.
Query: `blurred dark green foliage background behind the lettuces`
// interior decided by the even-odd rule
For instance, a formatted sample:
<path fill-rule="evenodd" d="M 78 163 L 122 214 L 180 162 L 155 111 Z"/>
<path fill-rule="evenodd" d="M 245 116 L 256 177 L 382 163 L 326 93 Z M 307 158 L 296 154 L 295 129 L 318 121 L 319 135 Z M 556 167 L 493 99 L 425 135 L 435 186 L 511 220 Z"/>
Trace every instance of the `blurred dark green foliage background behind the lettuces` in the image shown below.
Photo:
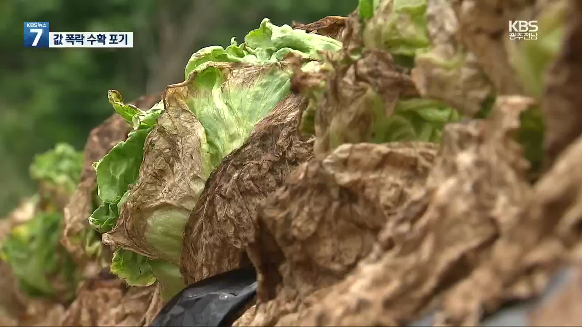
<path fill-rule="evenodd" d="M 109 89 L 126 101 L 183 80 L 193 52 L 242 42 L 264 17 L 277 25 L 346 16 L 357 0 L 0 1 L 0 216 L 34 192 L 29 165 L 56 142 L 83 149 L 113 113 Z M 23 22 L 51 31 L 133 31 L 132 49 L 23 48 Z"/>

